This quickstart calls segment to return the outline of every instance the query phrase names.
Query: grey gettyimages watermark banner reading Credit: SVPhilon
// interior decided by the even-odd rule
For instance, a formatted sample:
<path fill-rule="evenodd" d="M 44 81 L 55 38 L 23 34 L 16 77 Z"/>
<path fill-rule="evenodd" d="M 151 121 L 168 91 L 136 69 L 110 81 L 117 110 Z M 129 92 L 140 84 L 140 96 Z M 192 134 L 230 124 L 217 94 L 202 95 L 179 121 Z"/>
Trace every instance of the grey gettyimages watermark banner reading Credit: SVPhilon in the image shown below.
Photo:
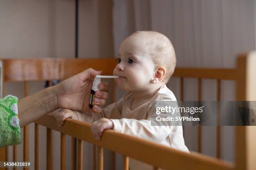
<path fill-rule="evenodd" d="M 256 101 L 152 101 L 152 126 L 256 125 Z"/>

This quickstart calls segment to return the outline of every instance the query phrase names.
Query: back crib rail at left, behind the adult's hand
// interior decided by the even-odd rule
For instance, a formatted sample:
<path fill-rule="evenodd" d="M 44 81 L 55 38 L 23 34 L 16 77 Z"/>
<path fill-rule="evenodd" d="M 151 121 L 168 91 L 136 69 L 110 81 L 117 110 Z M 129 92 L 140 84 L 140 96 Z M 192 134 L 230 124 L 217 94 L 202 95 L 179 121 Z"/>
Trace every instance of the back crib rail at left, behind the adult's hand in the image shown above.
<path fill-rule="evenodd" d="M 113 75 L 115 58 L 38 58 L 4 59 L 4 81 L 64 80 L 83 70 L 93 67 L 102 75 Z"/>

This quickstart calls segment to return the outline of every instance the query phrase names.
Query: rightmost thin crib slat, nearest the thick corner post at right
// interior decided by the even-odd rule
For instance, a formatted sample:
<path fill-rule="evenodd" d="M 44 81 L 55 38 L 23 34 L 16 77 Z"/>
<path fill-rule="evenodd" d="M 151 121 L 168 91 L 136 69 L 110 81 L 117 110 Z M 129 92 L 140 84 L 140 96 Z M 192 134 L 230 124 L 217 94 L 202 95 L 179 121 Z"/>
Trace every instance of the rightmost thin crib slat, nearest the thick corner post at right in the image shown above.
<path fill-rule="evenodd" d="M 217 80 L 217 122 L 220 122 L 220 79 Z M 220 159 L 220 126 L 217 125 L 217 158 Z"/>

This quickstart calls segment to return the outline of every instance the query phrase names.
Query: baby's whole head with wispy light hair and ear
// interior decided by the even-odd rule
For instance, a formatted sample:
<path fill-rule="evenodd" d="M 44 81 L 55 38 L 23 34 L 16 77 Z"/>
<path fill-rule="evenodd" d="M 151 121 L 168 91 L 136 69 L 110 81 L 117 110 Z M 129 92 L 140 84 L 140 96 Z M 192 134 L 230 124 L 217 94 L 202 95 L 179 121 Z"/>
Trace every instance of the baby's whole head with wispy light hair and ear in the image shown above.
<path fill-rule="evenodd" d="M 156 31 L 137 31 L 120 45 L 114 75 L 126 91 L 148 90 L 166 84 L 174 72 L 176 56 L 171 41 Z"/>

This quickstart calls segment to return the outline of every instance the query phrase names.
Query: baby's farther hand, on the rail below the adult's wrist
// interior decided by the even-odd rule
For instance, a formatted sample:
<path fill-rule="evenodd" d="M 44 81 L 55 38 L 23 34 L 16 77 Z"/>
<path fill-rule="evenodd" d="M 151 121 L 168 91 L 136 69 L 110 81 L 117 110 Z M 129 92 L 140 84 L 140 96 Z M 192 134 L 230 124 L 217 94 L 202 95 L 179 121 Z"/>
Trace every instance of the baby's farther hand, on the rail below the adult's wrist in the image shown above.
<path fill-rule="evenodd" d="M 64 120 L 67 118 L 72 118 L 74 120 L 78 120 L 77 113 L 73 110 L 69 109 L 61 109 L 59 112 L 55 114 L 56 122 L 58 126 L 62 126 L 64 124 Z"/>

